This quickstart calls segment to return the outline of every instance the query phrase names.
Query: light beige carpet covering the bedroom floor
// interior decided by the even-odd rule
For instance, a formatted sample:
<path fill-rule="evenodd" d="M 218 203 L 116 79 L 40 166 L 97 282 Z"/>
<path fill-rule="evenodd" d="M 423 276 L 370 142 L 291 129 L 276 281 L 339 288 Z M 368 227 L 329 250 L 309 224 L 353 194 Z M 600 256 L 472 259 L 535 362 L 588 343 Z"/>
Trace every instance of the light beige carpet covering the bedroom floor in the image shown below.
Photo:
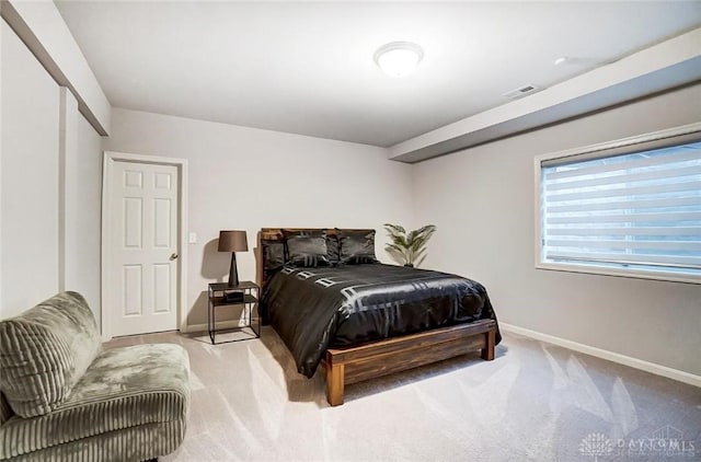
<path fill-rule="evenodd" d="M 269 327 L 210 345 L 174 333 L 114 346 L 179 343 L 193 396 L 183 446 L 163 461 L 701 460 L 701 389 L 505 334 L 479 356 L 349 385 L 325 402 Z"/>

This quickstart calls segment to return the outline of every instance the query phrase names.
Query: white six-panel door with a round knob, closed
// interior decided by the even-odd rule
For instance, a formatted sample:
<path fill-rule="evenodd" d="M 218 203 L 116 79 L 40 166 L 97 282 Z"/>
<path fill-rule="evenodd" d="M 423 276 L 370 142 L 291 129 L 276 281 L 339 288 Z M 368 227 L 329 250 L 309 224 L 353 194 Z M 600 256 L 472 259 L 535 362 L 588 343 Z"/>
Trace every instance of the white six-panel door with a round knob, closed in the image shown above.
<path fill-rule="evenodd" d="M 110 178 L 112 335 L 177 328 L 177 166 L 116 161 Z"/>

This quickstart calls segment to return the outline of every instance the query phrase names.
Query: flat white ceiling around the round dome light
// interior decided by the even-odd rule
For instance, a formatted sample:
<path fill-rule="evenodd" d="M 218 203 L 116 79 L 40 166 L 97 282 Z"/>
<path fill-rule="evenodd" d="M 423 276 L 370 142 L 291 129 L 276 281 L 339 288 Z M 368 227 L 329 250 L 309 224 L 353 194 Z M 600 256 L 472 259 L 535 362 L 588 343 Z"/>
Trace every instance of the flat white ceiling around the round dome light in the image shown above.
<path fill-rule="evenodd" d="M 701 25 L 699 1 L 56 4 L 115 107 L 380 147 Z M 424 48 L 407 78 L 372 60 L 393 41 Z"/>

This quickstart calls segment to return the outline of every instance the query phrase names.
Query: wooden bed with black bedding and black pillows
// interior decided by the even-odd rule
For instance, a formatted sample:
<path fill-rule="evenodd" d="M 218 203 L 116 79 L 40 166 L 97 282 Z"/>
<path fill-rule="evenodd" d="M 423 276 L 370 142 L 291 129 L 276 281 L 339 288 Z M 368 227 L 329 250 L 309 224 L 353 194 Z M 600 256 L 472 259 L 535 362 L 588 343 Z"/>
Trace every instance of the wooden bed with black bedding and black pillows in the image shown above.
<path fill-rule="evenodd" d="M 494 359 L 501 336 L 484 287 L 377 262 L 374 230 L 263 228 L 257 256 L 263 322 L 300 373 L 325 369 L 332 406 L 345 384 L 474 350 Z"/>

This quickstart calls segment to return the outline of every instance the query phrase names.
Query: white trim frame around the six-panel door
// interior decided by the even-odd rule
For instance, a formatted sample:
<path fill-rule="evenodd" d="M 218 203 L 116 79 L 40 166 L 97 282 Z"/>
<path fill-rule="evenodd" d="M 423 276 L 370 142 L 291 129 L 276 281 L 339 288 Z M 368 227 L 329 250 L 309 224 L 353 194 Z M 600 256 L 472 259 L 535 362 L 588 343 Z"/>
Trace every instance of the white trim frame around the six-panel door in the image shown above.
<path fill-rule="evenodd" d="M 108 307 L 112 304 L 112 281 L 107 269 L 112 267 L 112 243 L 110 230 L 112 229 L 112 213 L 110 204 L 112 199 L 112 172 L 115 162 L 148 163 L 157 165 L 174 165 L 177 168 L 180 178 L 179 207 L 177 207 L 177 289 L 176 289 L 176 319 L 177 330 L 187 332 L 187 316 L 185 310 L 187 303 L 187 160 L 177 158 L 164 158 L 160 155 L 133 154 L 128 152 L 104 151 L 102 162 L 102 290 L 101 290 L 101 324 L 102 340 L 112 339 L 112 313 Z"/>

